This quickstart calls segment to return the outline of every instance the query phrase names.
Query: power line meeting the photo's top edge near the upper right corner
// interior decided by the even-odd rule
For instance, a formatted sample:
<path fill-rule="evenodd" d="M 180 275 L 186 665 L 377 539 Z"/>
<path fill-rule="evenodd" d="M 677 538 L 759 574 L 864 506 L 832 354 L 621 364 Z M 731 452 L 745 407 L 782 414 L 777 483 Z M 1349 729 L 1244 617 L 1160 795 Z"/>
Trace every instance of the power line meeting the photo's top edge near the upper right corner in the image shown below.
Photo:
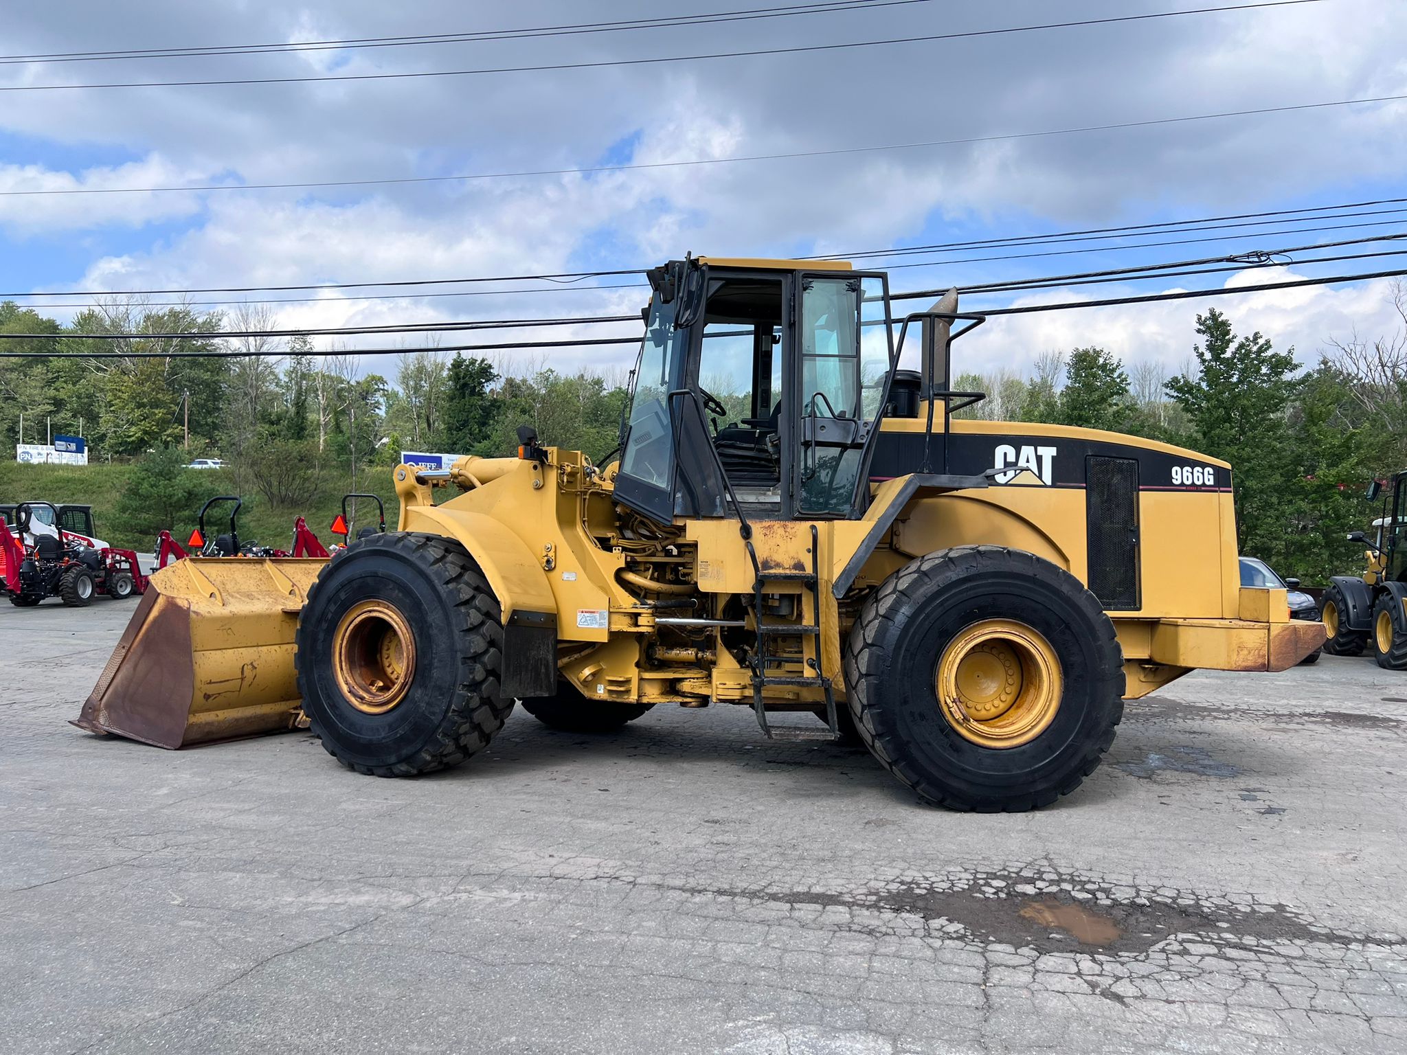
<path fill-rule="evenodd" d="M 1325 0 L 1262 0 L 1252 4 L 1225 4 L 1221 7 L 1196 7 L 1180 11 L 1151 11 L 1148 14 L 1126 14 L 1110 18 L 1081 18 L 1064 23 L 1041 23 L 1036 25 L 1009 25 L 996 30 L 967 30 L 961 32 L 926 34 L 923 37 L 891 37 L 878 41 L 846 41 L 841 44 L 803 44 L 789 48 L 754 48 L 750 51 L 708 52 L 701 55 L 667 55 L 639 59 L 601 59 L 597 62 L 553 62 L 537 66 L 487 66 L 481 69 L 450 70 L 407 70 L 401 73 L 322 73 L 300 77 L 227 77 L 218 80 L 139 80 L 108 82 L 98 84 L 6 84 L 0 91 L 65 91 L 75 89 L 132 89 L 132 87 L 204 87 L 215 84 L 305 84 L 346 80 L 409 80 L 422 77 L 469 77 L 498 73 L 550 73 L 568 69 L 602 69 L 613 66 L 654 66 L 674 62 L 709 62 L 713 59 L 744 59 L 763 55 L 801 55 L 809 52 L 841 51 L 848 48 L 885 48 L 898 44 L 931 44 L 936 41 L 957 41 L 974 37 L 996 37 L 1014 32 L 1038 32 L 1045 30 L 1067 30 L 1085 25 L 1109 25 L 1114 23 L 1141 23 L 1154 18 L 1176 18 L 1193 14 L 1214 14 L 1221 11 L 1242 11 L 1262 7 L 1296 7 L 1318 4 Z"/>

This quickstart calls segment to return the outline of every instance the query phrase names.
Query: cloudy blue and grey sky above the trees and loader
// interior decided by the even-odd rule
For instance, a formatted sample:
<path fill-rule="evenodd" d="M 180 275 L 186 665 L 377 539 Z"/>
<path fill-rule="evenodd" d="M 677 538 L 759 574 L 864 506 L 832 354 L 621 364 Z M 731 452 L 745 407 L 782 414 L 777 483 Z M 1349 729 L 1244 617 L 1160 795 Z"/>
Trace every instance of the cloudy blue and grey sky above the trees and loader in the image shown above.
<path fill-rule="evenodd" d="M 0 86 L 31 90 L 0 91 L 0 293 L 463 279 L 637 267 L 684 252 L 855 253 L 1407 197 L 1407 101 L 1401 100 L 1000 138 L 1407 96 L 1401 48 L 1407 4 L 1400 0 L 1317 0 L 946 41 L 908 38 L 1206 4 L 846 0 L 829 6 L 846 10 L 787 11 L 688 27 L 279 53 L 25 60 L 98 49 L 518 31 L 660 18 L 664 11 L 771 8 L 767 14 L 777 15 L 784 6 L 801 3 L 10 4 L 0 45 L 10 58 L 0 63 Z M 900 42 L 463 76 L 32 90 L 49 84 L 619 63 L 858 41 Z M 969 142 L 581 172 L 953 139 Z M 542 170 L 567 172 L 241 188 Z M 227 188 L 15 194 L 189 186 Z M 1370 210 L 1377 211 L 1346 215 Z M 920 290 L 1407 232 L 1407 201 L 1330 211 L 1338 215 L 1140 238 L 878 256 L 867 263 L 899 266 L 892 270 L 892 287 Z M 1206 241 L 1138 245 L 1180 239 Z M 1392 249 L 1393 242 L 1375 242 L 1321 255 Z M 993 256 L 1017 259 L 975 259 Z M 1290 263 L 1254 276 L 1071 286 L 1021 298 L 989 294 L 969 297 L 964 307 L 1387 270 L 1407 266 L 1404 260 L 1407 255 Z M 618 314 L 639 307 L 639 288 L 591 287 L 630 281 L 512 281 L 404 293 L 217 293 L 190 294 L 189 300 L 315 297 L 270 305 L 277 324 L 374 325 Z M 477 295 L 409 295 L 466 290 Z M 394 297 L 386 298 L 388 294 Z M 383 298 L 357 300 L 367 295 Z M 72 295 L 24 300 L 53 305 L 49 312 L 59 318 L 89 302 Z M 1130 363 L 1158 360 L 1178 369 L 1190 353 L 1193 318 L 1206 304 L 993 319 L 965 349 L 960 346 L 960 364 L 1023 370 L 1041 352 L 1097 343 Z M 1218 304 L 1240 329 L 1258 328 L 1283 345 L 1293 343 L 1306 360 L 1317 357 L 1330 338 L 1345 338 L 1355 329 L 1370 336 L 1392 328 L 1386 280 L 1247 294 Z M 587 332 L 533 331 L 553 338 Z M 609 331 L 597 326 L 590 332 Z M 398 343 L 366 340 L 366 346 Z M 452 340 L 446 336 L 445 343 Z M 554 354 L 571 369 L 615 364 L 630 352 L 567 349 Z M 539 363 L 542 354 L 518 362 Z M 367 366 L 391 369 L 387 362 Z"/>

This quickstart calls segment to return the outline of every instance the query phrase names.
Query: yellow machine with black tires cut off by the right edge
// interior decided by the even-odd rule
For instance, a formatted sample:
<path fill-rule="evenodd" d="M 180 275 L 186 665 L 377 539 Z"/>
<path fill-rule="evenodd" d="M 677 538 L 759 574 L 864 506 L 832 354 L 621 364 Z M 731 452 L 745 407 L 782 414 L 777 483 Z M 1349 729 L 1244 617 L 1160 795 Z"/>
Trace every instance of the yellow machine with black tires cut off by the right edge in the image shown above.
<path fill-rule="evenodd" d="M 1384 670 L 1407 670 L 1407 470 L 1393 477 L 1383 495 L 1383 515 L 1373 520 L 1375 537 L 1352 532 L 1349 542 L 1366 546 L 1368 570 L 1362 578 L 1334 575 L 1320 599 L 1320 618 L 1330 656 L 1362 656 L 1370 648 Z M 1368 501 L 1383 494 L 1379 481 L 1368 488 Z"/>

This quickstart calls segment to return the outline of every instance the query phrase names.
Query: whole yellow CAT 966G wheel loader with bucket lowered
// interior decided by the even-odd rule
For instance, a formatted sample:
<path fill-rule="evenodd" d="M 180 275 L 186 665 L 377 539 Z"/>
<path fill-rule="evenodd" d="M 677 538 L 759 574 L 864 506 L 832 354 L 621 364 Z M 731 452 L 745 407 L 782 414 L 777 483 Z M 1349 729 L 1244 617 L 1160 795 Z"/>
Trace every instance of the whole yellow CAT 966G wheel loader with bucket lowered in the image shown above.
<path fill-rule="evenodd" d="M 858 737 L 929 802 L 1024 810 L 1099 765 L 1124 699 L 1323 643 L 1240 588 L 1225 463 L 955 421 L 982 398 L 950 385 L 982 322 L 955 294 L 892 319 L 886 277 L 839 262 L 650 284 L 619 459 L 522 429 L 516 457 L 395 467 L 398 530 L 331 561 L 183 560 L 76 724 L 179 747 L 305 720 L 411 776 L 515 701 L 570 730 L 737 703 L 772 738 Z"/>

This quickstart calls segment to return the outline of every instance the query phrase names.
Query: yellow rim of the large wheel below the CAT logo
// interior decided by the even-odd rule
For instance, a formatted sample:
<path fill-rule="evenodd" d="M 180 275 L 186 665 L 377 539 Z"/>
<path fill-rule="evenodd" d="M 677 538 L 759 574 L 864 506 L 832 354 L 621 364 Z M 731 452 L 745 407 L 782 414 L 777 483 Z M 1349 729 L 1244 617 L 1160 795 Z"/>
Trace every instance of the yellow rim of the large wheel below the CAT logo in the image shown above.
<path fill-rule="evenodd" d="M 1020 747 L 1059 710 L 1059 658 L 1038 632 L 1010 619 L 985 619 L 948 641 L 934 674 L 938 706 L 965 740 Z"/>

